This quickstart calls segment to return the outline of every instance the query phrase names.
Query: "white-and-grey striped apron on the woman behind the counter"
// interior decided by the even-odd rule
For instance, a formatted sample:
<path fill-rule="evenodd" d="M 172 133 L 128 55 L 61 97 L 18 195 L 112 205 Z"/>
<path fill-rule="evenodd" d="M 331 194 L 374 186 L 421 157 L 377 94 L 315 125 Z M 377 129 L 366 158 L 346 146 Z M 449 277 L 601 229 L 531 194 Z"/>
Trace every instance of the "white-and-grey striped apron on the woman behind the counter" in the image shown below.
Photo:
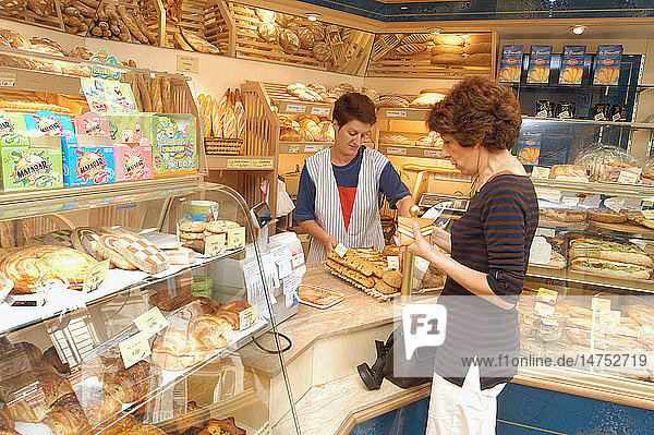
<path fill-rule="evenodd" d="M 384 249 L 384 232 L 379 219 L 379 178 L 388 159 L 379 152 L 365 147 L 359 171 L 356 195 L 346 231 L 343 213 L 331 168 L 331 147 L 305 160 L 306 170 L 316 185 L 315 214 L 317 223 L 347 247 Z M 326 258 L 325 245 L 311 241 L 307 264 Z"/>

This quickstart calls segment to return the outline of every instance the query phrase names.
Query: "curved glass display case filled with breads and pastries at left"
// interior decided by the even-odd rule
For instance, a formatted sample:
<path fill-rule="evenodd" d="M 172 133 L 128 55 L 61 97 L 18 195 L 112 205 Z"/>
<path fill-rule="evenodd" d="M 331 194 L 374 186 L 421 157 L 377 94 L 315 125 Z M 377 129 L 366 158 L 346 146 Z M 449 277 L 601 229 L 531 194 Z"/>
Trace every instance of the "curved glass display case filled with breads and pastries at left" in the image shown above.
<path fill-rule="evenodd" d="M 2 431 L 288 434 L 287 389 L 241 359 L 281 354 L 242 197 L 184 178 L 69 191 L 0 197 Z"/>

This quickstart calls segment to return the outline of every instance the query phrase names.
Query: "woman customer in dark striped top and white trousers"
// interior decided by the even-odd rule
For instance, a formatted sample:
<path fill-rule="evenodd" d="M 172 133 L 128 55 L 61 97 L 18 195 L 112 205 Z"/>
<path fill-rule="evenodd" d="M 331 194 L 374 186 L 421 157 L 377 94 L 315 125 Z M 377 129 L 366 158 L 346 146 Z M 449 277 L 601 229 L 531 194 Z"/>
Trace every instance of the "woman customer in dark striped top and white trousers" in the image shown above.
<path fill-rule="evenodd" d="M 438 299 L 448 317 L 436 351 L 429 435 L 494 434 L 497 395 L 517 373 L 498 355 L 510 362 L 520 350 L 516 303 L 538 225 L 534 186 L 510 153 L 520 124 L 512 92 L 484 77 L 456 85 L 427 117 L 429 130 L 443 136 L 444 157 L 473 178 L 474 192 L 451 233 L 432 234 L 451 256 L 417 226 L 408 247 L 447 275 Z"/>

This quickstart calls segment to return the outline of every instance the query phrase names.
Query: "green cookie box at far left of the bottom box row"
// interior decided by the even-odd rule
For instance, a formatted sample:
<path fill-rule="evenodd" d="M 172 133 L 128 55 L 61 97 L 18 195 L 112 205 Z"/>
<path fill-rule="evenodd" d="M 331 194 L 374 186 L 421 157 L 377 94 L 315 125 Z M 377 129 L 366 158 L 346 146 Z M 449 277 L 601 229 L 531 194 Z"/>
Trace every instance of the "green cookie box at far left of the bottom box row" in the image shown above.
<path fill-rule="evenodd" d="M 4 192 L 63 188 L 58 137 L 29 137 L 27 145 L 0 147 Z"/>

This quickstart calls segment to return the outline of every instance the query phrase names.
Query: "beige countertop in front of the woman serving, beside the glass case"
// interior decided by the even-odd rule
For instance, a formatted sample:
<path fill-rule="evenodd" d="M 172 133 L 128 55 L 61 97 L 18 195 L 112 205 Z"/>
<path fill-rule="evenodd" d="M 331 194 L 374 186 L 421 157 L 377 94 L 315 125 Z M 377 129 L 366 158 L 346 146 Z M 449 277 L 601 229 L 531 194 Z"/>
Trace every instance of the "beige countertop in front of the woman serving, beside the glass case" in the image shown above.
<path fill-rule="evenodd" d="M 340 291 L 346 294 L 346 299 L 327 310 L 300 304 L 298 314 L 277 326 L 279 333 L 292 340 L 291 349 L 283 353 L 287 364 L 319 339 L 389 324 L 396 316 L 395 311 L 398 310 L 397 304 L 392 301 L 378 302 L 352 285 L 329 274 L 322 264 L 307 266 L 302 283 Z M 266 348 L 272 348 L 270 337 L 271 335 L 268 334 L 258 341 Z M 284 346 L 283 340 L 281 346 Z M 245 365 L 266 376 L 274 377 L 281 370 L 278 355 L 266 353 L 254 343 L 241 348 L 239 354 Z"/>

